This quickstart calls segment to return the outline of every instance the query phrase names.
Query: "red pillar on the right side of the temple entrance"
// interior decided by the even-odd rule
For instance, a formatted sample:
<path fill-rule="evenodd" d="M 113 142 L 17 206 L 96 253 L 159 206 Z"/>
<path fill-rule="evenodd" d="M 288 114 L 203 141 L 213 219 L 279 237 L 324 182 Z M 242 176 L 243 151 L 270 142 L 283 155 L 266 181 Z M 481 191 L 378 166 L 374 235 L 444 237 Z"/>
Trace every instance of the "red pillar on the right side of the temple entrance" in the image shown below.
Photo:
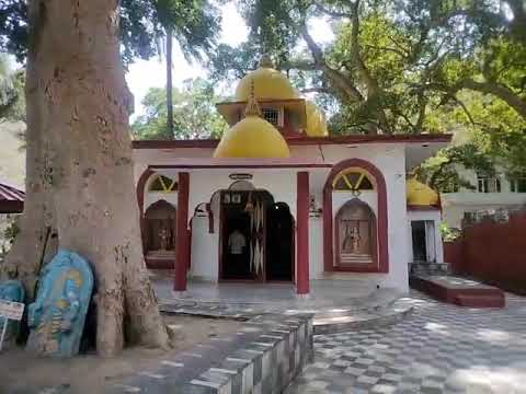
<path fill-rule="evenodd" d="M 297 258 L 296 291 L 299 296 L 310 292 L 309 276 L 309 173 L 298 172 L 296 204 Z"/>

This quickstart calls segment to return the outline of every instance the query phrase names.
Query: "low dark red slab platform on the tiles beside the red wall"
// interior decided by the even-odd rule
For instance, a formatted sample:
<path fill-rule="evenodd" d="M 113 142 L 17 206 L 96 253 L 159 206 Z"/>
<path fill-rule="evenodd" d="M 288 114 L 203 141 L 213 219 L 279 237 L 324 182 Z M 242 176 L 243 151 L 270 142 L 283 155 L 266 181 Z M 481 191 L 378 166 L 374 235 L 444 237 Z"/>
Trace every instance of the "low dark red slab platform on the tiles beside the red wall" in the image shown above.
<path fill-rule="evenodd" d="M 495 287 L 455 276 L 411 276 L 412 288 L 451 304 L 468 308 L 504 308 L 504 292 Z"/>

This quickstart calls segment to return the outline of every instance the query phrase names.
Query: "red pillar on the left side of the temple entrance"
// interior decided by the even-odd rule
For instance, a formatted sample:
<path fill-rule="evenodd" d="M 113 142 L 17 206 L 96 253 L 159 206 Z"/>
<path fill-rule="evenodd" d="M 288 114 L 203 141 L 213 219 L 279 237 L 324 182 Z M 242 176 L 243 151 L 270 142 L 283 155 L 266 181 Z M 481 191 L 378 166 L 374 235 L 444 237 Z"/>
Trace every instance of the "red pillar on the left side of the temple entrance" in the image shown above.
<path fill-rule="evenodd" d="M 178 186 L 178 242 L 175 244 L 175 277 L 173 280 L 173 290 L 185 291 L 186 271 L 190 267 L 188 173 L 179 173 Z"/>

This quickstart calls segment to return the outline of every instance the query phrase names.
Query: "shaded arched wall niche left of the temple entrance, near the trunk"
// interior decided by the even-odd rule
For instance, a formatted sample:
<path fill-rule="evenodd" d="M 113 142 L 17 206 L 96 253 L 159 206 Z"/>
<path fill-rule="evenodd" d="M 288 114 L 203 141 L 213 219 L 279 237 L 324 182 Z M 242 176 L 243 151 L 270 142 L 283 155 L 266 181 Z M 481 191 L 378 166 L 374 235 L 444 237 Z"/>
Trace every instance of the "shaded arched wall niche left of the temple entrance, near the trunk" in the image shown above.
<path fill-rule="evenodd" d="M 148 259 L 175 257 L 176 209 L 165 200 L 152 204 L 145 212 L 145 254 Z"/>

